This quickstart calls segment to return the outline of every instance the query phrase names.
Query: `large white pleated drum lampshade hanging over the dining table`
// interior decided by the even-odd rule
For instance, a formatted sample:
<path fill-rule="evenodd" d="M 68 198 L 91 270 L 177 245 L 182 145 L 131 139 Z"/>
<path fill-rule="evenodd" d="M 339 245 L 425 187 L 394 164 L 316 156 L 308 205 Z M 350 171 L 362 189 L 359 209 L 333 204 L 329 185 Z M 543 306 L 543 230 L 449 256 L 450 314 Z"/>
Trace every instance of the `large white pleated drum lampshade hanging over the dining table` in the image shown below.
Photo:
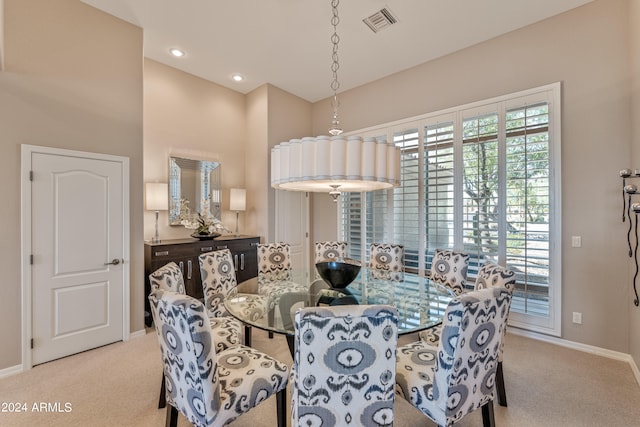
<path fill-rule="evenodd" d="M 318 136 L 271 150 L 271 186 L 313 192 L 373 191 L 400 185 L 400 149 L 384 139 Z"/>

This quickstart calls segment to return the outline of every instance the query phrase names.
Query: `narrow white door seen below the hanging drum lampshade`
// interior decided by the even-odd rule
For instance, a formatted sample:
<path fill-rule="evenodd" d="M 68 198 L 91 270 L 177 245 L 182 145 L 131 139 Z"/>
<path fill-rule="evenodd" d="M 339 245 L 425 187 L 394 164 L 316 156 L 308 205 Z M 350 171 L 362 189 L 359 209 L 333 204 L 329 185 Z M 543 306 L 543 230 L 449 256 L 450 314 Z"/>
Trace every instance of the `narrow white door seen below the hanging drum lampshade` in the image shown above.
<path fill-rule="evenodd" d="M 291 246 L 291 264 L 296 283 L 309 278 L 309 194 L 276 190 L 276 242 Z"/>

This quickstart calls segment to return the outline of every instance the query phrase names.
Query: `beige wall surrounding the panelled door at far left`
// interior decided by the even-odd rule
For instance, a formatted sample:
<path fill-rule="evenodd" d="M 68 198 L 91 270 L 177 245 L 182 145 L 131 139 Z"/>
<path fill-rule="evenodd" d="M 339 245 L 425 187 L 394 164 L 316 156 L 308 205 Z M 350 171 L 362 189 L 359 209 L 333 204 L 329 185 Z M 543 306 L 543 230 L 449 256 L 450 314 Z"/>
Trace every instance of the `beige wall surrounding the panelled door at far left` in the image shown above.
<path fill-rule="evenodd" d="M 130 159 L 131 330 L 144 327 L 142 32 L 77 0 L 5 0 L 4 6 L 0 369 L 21 363 L 21 144 Z"/>

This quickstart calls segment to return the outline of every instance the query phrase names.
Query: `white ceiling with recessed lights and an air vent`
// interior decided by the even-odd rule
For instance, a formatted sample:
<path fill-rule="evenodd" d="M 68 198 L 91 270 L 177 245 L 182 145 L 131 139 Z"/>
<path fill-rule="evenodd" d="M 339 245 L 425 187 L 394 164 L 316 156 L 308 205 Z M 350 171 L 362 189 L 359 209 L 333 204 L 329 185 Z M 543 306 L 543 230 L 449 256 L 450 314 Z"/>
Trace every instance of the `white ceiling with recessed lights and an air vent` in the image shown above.
<path fill-rule="evenodd" d="M 145 57 L 235 91 L 270 83 L 310 102 L 333 95 L 329 0 L 82 1 L 143 28 Z M 344 0 L 338 92 L 590 1 Z M 374 33 L 362 20 L 385 7 L 397 23 Z"/>

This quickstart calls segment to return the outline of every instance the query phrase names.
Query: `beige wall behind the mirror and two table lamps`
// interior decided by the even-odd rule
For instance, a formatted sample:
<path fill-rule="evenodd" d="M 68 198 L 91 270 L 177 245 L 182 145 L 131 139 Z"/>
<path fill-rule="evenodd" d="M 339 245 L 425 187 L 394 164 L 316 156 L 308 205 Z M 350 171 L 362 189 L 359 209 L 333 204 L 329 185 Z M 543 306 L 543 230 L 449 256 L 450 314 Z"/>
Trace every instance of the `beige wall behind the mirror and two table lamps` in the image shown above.
<path fill-rule="evenodd" d="M 150 59 L 144 60 L 144 181 L 168 182 L 169 156 L 219 161 L 222 164 L 222 222 L 235 229 L 229 210 L 229 189 L 245 188 L 245 96 Z M 249 210 L 239 216 L 243 234 Z M 161 239 L 191 234 L 170 226 L 168 212 L 160 212 Z M 144 212 L 144 237 L 155 234 L 155 213 Z"/>

